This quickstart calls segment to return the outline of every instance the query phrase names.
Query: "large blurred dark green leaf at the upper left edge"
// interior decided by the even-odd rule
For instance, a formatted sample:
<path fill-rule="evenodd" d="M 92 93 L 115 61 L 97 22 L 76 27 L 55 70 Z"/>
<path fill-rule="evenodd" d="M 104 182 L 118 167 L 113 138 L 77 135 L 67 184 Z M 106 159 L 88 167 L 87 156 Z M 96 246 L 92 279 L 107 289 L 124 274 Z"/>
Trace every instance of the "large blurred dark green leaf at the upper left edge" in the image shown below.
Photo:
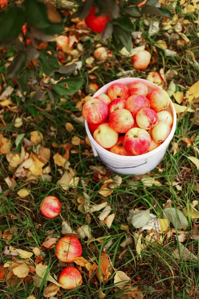
<path fill-rule="evenodd" d="M 18 6 L 10 8 L 0 17 L 0 41 L 16 38 L 25 23 L 25 11 Z"/>

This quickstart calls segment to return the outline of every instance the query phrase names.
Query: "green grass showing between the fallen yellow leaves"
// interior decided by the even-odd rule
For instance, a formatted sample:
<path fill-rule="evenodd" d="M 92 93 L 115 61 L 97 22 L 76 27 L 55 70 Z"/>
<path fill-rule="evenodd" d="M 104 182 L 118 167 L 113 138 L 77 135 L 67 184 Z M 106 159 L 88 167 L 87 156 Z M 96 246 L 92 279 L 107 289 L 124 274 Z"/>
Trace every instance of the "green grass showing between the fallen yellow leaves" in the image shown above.
<path fill-rule="evenodd" d="M 177 13 L 180 13 L 182 6 L 177 8 Z M 185 17 L 185 16 L 184 16 Z M 189 14 L 186 16 L 189 20 L 196 20 L 197 13 Z M 136 21 L 135 30 L 142 30 L 143 36 L 149 42 L 149 48 L 152 56 L 155 54 L 153 45 L 158 39 L 164 39 L 169 45 L 169 39 L 163 37 L 164 29 L 161 28 L 156 36 L 149 37 L 147 34 L 148 28 L 143 25 L 143 22 Z M 197 24 L 194 23 L 188 25 L 186 35 L 192 41 L 191 51 L 197 55 Z M 84 52 L 81 56 L 83 60 L 83 68 L 80 73 L 83 76 L 85 88 L 92 80 L 89 78 L 88 73 L 85 71 L 85 60 L 92 56 L 94 50 L 94 43 L 98 43 L 99 40 L 94 41 L 94 36 L 91 35 L 89 41 L 84 43 Z M 151 44 L 150 44 L 151 43 Z M 113 50 L 112 57 L 108 58 L 108 63 L 104 67 L 104 64 L 99 65 L 99 69 L 94 72 L 97 76 L 97 83 L 101 87 L 103 84 L 117 79 L 117 73 L 122 70 L 131 69 L 130 58 L 121 57 L 118 52 L 112 49 L 111 41 L 104 43 L 109 49 Z M 177 57 L 165 57 L 164 51 L 158 49 L 158 60 L 150 65 L 149 69 L 143 72 L 135 71 L 135 77 L 146 78 L 148 71 L 154 67 L 157 71 L 160 68 L 165 67 L 165 73 L 169 69 L 174 69 L 178 72 L 175 83 L 179 86 L 191 86 L 196 82 L 198 69 L 190 63 L 190 56 L 186 54 L 188 45 L 177 46 L 172 44 L 173 50 L 178 52 Z M 10 53 L 4 57 L 4 62 Z M 12 54 L 13 55 L 13 54 Z M 1 64 L 1 72 L 4 72 L 4 67 Z M 2 79 L 0 78 L 2 84 Z M 9 80 L 7 84 L 11 84 Z M 54 148 L 52 143 L 61 145 L 67 142 L 71 142 L 73 136 L 78 136 L 81 139 L 85 139 L 86 132 L 82 125 L 77 124 L 71 118 L 71 113 L 76 116 L 80 116 L 81 113 L 76 109 L 75 102 L 70 97 L 67 97 L 67 101 L 64 103 L 58 102 L 58 109 L 54 109 L 52 104 L 52 110 L 46 111 L 47 105 L 50 103 L 49 99 L 44 102 L 34 103 L 31 100 L 29 102 L 22 103 L 19 98 L 13 95 L 13 103 L 17 105 L 18 112 L 13 113 L 10 111 L 4 111 L 3 120 L 6 123 L 6 127 L 0 127 L 0 134 L 9 138 L 13 143 L 16 134 L 25 133 L 26 138 L 30 138 L 30 132 L 39 130 L 44 135 L 43 145 L 51 149 L 51 173 L 52 181 L 43 182 L 35 181 L 28 182 L 26 179 L 17 179 L 16 187 L 14 191 L 8 189 L 4 182 L 6 176 L 12 176 L 12 171 L 8 169 L 8 162 L 5 155 L 0 155 L 0 182 L 2 192 L 0 194 L 0 230 L 3 232 L 7 228 L 16 227 L 17 233 L 15 233 L 11 240 L 0 239 L 0 265 L 3 265 L 6 261 L 10 261 L 12 257 L 4 254 L 6 246 L 13 246 L 30 251 L 31 247 L 40 247 L 45 238 L 49 235 L 60 238 L 62 220 L 66 219 L 71 227 L 76 230 L 78 227 L 86 223 L 86 215 L 78 211 L 78 196 L 84 196 L 84 186 L 79 183 L 76 189 L 70 188 L 68 191 L 63 191 L 56 181 L 60 178 L 59 169 L 53 162 L 53 155 L 56 152 L 64 154 L 63 148 Z M 23 116 L 23 126 L 16 129 L 13 126 L 13 118 Z M 75 131 L 68 133 L 65 129 L 65 123 L 71 122 Z M 52 131 L 52 127 L 54 128 Z M 52 135 L 52 132 L 54 135 Z M 121 225 L 128 225 L 127 216 L 130 209 L 133 208 L 151 208 L 151 212 L 158 216 L 163 215 L 163 204 L 168 200 L 172 201 L 173 206 L 181 206 L 181 208 L 187 208 L 193 200 L 199 198 L 199 176 L 197 167 L 186 156 L 197 156 L 197 151 L 194 146 L 188 147 L 181 139 L 187 137 L 191 139 L 195 135 L 195 145 L 199 147 L 199 134 L 198 127 L 194 125 L 193 114 L 186 113 L 181 115 L 178 119 L 177 129 L 172 142 L 178 142 L 178 152 L 173 155 L 172 146 L 167 149 L 167 153 L 164 159 L 160 163 L 160 168 L 163 171 L 159 171 L 159 167 L 156 167 L 151 171 L 150 176 L 155 177 L 160 186 L 152 185 L 145 187 L 140 180 L 140 177 L 133 177 L 130 175 L 122 176 L 121 185 L 109 195 L 106 200 L 111 206 L 111 213 L 115 214 L 115 219 L 108 229 L 106 225 L 100 223 L 99 212 L 91 214 L 91 223 L 89 224 L 92 235 L 94 237 L 92 243 L 89 245 L 87 239 L 81 240 L 83 245 L 83 256 L 86 259 L 94 259 L 95 263 L 100 265 L 100 257 L 103 246 L 112 240 L 113 244 L 107 249 L 107 254 L 111 260 L 114 269 L 124 271 L 130 278 L 133 286 L 138 287 L 142 294 L 147 299 L 197 299 L 199 297 L 199 262 L 190 262 L 177 260 L 173 256 L 173 251 L 179 246 L 177 241 L 178 237 L 173 234 L 171 238 L 168 238 L 166 234 L 162 234 L 162 242 L 148 242 L 147 247 L 141 252 L 141 259 L 138 257 L 135 249 L 134 242 L 128 245 L 125 249 L 120 247 L 121 242 L 127 237 L 127 232 L 121 230 Z M 94 180 L 94 171 L 89 166 L 101 165 L 101 162 L 92 155 L 86 155 L 85 150 L 91 150 L 88 145 L 81 144 L 80 146 L 74 146 L 73 149 L 79 150 L 77 153 L 70 153 L 70 163 L 73 169 L 77 172 L 77 175 L 81 180 L 87 180 L 86 191 L 89 195 L 90 202 L 99 204 L 103 197 L 98 193 L 101 182 Z M 16 149 L 20 151 L 20 146 Z M 115 173 L 107 170 L 108 177 L 114 177 Z M 182 186 L 182 190 L 178 190 L 173 186 L 173 181 L 179 182 Z M 27 188 L 31 191 L 31 194 L 24 199 L 19 198 L 17 191 L 21 188 Z M 40 213 L 40 202 L 47 195 L 57 196 L 62 201 L 61 216 L 53 220 L 47 220 L 42 217 Z M 187 231 L 191 231 L 198 226 L 197 219 L 191 219 L 188 215 L 189 227 Z M 129 234 L 133 237 L 133 233 L 136 229 L 132 225 L 129 225 Z M 147 232 L 143 232 L 142 242 L 146 243 Z M 178 235 L 178 234 L 177 234 Z M 103 242 L 100 243 L 98 239 Z M 191 252 L 198 256 L 198 240 L 188 238 L 184 243 Z M 120 254 L 125 250 L 125 253 L 120 257 Z M 54 248 L 44 251 L 45 257 L 43 262 L 49 265 L 51 274 L 59 276 L 61 268 L 57 267 L 58 261 L 55 257 Z M 34 261 L 34 258 L 32 258 Z M 114 291 L 113 277 L 114 270 L 111 270 L 111 276 L 107 282 L 99 282 L 99 280 L 92 275 L 92 279 L 89 280 L 88 271 L 82 271 L 84 284 L 72 291 L 65 291 L 61 289 L 55 298 L 98 298 L 98 291 L 101 288 L 105 293 L 107 299 L 123 298 L 124 290 Z M 23 282 L 19 281 L 14 285 L 9 285 L 6 282 L 0 282 L 0 299 L 26 299 L 30 295 L 34 295 L 36 299 L 43 299 L 43 288 L 35 288 L 31 281 Z"/>

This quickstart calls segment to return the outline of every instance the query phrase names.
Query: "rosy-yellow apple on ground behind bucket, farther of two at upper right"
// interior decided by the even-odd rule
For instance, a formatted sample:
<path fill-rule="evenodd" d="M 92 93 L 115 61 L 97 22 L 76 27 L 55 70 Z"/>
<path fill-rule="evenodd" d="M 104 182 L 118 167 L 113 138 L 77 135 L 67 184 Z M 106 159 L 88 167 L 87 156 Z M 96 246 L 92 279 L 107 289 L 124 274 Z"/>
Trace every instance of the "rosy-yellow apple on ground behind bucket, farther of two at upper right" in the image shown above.
<path fill-rule="evenodd" d="M 151 61 L 151 53 L 147 50 L 137 52 L 132 56 L 132 66 L 136 70 L 145 70 Z"/>

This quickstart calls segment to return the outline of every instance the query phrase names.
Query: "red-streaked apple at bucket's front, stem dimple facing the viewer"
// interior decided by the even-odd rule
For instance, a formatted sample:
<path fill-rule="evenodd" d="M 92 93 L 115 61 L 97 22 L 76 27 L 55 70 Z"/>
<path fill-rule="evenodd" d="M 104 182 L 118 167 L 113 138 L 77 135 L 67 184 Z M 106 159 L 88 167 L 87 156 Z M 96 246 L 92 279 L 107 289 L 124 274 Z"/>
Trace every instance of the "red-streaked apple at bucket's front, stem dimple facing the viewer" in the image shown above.
<path fill-rule="evenodd" d="M 124 137 L 124 149 L 131 154 L 143 154 L 150 147 L 151 137 L 149 133 L 140 128 L 130 129 Z"/>

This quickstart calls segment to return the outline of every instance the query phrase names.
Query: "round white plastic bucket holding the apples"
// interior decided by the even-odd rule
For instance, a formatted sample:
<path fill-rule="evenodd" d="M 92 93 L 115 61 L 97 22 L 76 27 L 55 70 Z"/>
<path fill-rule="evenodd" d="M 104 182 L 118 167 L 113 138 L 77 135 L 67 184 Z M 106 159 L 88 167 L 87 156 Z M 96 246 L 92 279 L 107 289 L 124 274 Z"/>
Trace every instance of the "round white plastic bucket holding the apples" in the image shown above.
<path fill-rule="evenodd" d="M 93 96 L 93 98 L 95 98 L 96 96 L 99 96 L 100 94 L 107 94 L 107 91 L 109 89 L 109 87 L 113 84 L 113 83 L 123 83 L 126 84 L 127 86 L 129 86 L 133 81 L 141 81 L 143 83 L 145 83 L 148 86 L 148 90 L 152 90 L 154 88 L 159 88 L 161 89 L 161 87 L 159 87 L 158 85 L 144 80 L 144 79 L 139 79 L 139 78 L 122 78 L 122 79 L 118 79 L 115 81 L 112 81 L 106 85 L 104 85 L 103 87 L 101 87 Z M 86 127 L 86 131 L 87 131 L 87 135 L 89 137 L 93 152 L 95 157 L 99 157 L 100 160 L 112 171 L 120 173 L 120 174 L 135 174 L 135 175 L 139 175 L 139 174 L 144 174 L 147 173 L 148 171 L 153 170 L 162 160 L 162 158 L 164 157 L 167 147 L 169 146 L 175 130 L 176 130 L 176 111 L 174 108 L 174 105 L 170 99 L 170 105 L 169 107 L 166 109 L 169 112 L 172 113 L 173 115 L 173 127 L 171 130 L 171 133 L 169 134 L 168 138 L 157 148 L 154 149 L 150 152 L 144 153 L 142 155 L 135 155 L 135 156 L 123 156 L 123 155 L 118 155 L 116 153 L 112 153 L 106 149 L 103 149 L 93 138 L 93 136 L 91 135 L 91 132 L 89 130 L 88 127 L 88 123 L 85 120 L 85 127 Z"/>

